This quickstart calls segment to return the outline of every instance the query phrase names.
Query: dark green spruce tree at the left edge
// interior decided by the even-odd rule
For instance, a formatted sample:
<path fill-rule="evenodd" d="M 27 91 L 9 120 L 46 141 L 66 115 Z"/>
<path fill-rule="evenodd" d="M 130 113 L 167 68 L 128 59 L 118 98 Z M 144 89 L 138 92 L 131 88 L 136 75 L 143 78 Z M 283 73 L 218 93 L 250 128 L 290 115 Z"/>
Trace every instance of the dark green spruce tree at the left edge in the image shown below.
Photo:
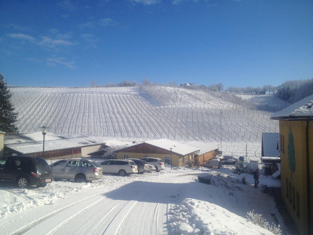
<path fill-rule="evenodd" d="M 18 113 L 10 101 L 12 94 L 8 89 L 4 76 L 0 73 L 0 131 L 8 134 L 18 133 L 14 123 L 17 121 Z"/>

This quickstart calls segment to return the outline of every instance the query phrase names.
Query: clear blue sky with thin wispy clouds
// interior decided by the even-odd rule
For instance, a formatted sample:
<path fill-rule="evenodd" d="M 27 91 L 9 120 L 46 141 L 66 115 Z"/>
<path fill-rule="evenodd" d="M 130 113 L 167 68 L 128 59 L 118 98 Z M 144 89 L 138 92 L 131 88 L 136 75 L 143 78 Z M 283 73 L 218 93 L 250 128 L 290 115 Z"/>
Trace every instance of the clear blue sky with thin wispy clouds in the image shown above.
<path fill-rule="evenodd" d="M 9 85 L 313 77 L 312 1 L 2 0 L 0 30 Z"/>

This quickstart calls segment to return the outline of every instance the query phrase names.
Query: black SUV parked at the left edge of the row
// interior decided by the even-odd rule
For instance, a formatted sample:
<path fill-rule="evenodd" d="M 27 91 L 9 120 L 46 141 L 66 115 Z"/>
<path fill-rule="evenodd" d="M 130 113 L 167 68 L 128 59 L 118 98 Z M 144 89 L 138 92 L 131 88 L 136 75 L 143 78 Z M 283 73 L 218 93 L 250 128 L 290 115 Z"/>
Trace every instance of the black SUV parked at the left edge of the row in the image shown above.
<path fill-rule="evenodd" d="M 13 182 L 20 188 L 44 187 L 54 180 L 45 159 L 32 156 L 0 158 L 0 181 Z"/>

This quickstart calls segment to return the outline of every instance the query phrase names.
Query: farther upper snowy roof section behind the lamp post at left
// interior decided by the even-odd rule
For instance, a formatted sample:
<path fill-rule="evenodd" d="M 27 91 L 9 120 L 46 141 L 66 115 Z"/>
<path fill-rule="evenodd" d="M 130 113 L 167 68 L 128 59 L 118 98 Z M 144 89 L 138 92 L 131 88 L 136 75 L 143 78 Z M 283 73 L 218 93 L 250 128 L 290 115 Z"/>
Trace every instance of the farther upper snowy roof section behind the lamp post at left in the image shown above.
<path fill-rule="evenodd" d="M 55 140 L 61 139 L 58 135 L 53 133 L 46 133 L 46 136 L 43 137 L 42 132 L 35 133 L 23 133 L 23 134 L 8 134 L 4 136 L 4 144 L 16 144 L 16 143 L 25 143 L 33 141 L 42 141 L 45 140 Z"/>

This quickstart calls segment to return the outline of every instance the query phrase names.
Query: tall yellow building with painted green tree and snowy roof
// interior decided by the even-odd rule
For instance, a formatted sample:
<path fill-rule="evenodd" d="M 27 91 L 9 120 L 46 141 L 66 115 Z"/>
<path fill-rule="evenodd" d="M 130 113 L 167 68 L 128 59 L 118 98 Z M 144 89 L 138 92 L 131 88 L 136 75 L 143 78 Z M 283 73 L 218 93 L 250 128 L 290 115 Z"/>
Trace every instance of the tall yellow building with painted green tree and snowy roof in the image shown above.
<path fill-rule="evenodd" d="M 282 199 L 299 233 L 313 234 L 313 95 L 271 119 L 279 120 Z"/>

